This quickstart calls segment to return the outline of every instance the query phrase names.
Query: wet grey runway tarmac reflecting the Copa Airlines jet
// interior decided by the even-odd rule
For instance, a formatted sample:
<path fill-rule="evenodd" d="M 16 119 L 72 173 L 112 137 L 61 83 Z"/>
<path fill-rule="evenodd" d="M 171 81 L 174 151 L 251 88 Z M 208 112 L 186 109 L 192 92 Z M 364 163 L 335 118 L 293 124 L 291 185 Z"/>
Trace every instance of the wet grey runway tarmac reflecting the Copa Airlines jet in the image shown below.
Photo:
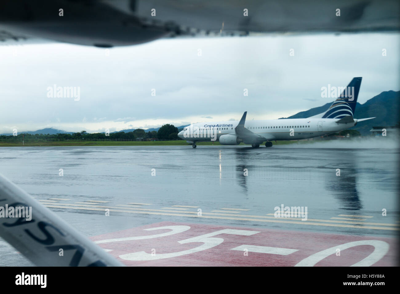
<path fill-rule="evenodd" d="M 211 232 L 206 228 L 232 227 L 321 236 L 326 243 L 321 250 L 335 238 L 386 240 L 391 252 L 399 230 L 398 149 L 345 147 L 14 147 L 0 149 L 0 173 L 93 240 L 168 224 L 198 228 L 199 235 Z M 306 213 L 274 215 L 277 207 Z M 154 238 L 146 242 L 149 253 L 159 244 Z M 30 264 L 0 243 L 0 265 Z M 276 240 L 274 248 L 289 244 Z M 290 246 L 300 250 L 304 244 Z M 394 265 L 386 259 L 380 265 Z"/>

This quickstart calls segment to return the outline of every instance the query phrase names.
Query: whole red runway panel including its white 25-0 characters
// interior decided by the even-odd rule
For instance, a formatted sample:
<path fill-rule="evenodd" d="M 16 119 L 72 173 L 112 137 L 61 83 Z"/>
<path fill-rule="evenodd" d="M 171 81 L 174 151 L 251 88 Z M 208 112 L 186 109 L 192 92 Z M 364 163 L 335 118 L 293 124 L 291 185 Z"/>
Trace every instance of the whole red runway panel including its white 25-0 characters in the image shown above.
<path fill-rule="evenodd" d="M 179 234 L 170 232 L 168 236 L 162 238 L 154 238 L 157 235 L 147 235 L 150 233 L 149 230 L 155 230 L 150 234 L 157 234 L 182 226 L 188 226 L 190 229 Z M 243 230 L 256 234 L 250 236 L 244 234 Z M 381 242 L 370 240 L 366 236 L 286 231 L 276 228 L 259 228 L 256 232 L 253 230 L 254 227 L 164 221 L 101 234 L 90 239 L 95 243 L 102 243 L 98 244 L 101 248 L 111 249 L 110 254 L 117 259 L 123 259 L 122 262 L 126 266 L 394 266 L 396 264 L 398 246 L 394 237 L 380 238 Z M 378 237 L 371 237 L 371 239 L 376 238 Z M 360 245 L 370 246 L 366 248 Z M 346 256 L 349 250 L 345 250 L 350 247 L 352 251 Z M 326 248 L 330 250 L 327 251 Z M 338 248 L 344 251 L 341 255 L 346 257 L 332 258 Z M 386 250 L 387 248 L 389 250 Z M 193 255 L 194 253 L 196 255 Z"/>

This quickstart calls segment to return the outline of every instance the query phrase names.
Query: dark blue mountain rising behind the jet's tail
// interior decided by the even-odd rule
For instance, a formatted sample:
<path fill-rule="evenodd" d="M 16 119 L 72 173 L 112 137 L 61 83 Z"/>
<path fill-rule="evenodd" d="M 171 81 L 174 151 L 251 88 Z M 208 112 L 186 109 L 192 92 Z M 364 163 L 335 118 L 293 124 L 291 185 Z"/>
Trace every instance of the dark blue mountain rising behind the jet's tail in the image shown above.
<path fill-rule="evenodd" d="M 288 118 L 308 118 L 310 116 L 325 112 L 332 104 L 326 103 L 324 106 L 311 108 L 306 111 L 296 113 Z M 373 126 L 394 126 L 399 122 L 400 91 L 385 91 L 372 97 L 364 104 L 357 102 L 354 118 L 376 118 L 359 122 L 352 130 L 357 130 L 362 136 L 368 136 Z M 285 119 L 285 118 L 280 118 Z"/>

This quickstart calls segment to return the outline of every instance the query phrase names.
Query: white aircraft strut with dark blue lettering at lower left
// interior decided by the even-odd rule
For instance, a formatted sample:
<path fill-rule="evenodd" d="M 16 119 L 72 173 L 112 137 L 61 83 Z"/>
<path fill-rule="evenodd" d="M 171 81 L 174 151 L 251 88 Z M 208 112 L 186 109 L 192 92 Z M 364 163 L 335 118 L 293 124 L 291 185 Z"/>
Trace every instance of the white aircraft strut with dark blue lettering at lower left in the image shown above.
<path fill-rule="evenodd" d="M 31 208 L 30 220 L 21 214 L 18 217 L 0 214 L 0 236 L 37 266 L 123 266 L 54 212 L 0 175 L 0 213 L 4 213 L 6 206 L 8 210 L 10 207 Z"/>

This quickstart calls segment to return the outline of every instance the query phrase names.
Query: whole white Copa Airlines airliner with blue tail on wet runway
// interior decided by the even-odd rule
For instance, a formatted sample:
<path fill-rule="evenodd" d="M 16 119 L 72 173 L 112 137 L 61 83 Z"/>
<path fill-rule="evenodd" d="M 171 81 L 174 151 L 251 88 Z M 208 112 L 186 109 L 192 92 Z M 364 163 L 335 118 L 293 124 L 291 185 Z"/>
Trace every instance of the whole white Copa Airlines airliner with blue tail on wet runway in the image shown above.
<path fill-rule="evenodd" d="M 271 141 L 301 140 L 346 130 L 358 122 L 372 119 L 353 118 L 361 80 L 362 78 L 353 78 L 326 112 L 309 118 L 246 122 L 247 112 L 244 112 L 240 121 L 191 124 L 179 132 L 178 136 L 191 142 L 193 148 L 196 148 L 196 142 L 216 140 L 222 145 L 238 145 L 244 142 L 258 148 L 264 142 L 266 147 L 271 147 Z"/>

